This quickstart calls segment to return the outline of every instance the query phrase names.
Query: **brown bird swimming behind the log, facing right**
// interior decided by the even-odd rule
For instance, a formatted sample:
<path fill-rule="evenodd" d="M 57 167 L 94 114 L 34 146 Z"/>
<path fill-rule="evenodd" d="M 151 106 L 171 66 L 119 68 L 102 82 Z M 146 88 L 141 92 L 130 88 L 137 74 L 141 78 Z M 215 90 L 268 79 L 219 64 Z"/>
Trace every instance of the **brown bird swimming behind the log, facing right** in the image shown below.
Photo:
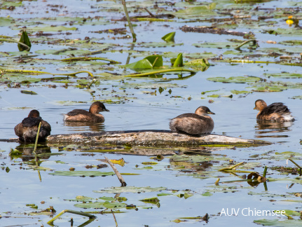
<path fill-rule="evenodd" d="M 74 109 L 67 114 L 64 114 L 64 121 L 82 121 L 92 123 L 103 123 L 105 121 L 104 116 L 99 114 L 102 111 L 109 111 L 106 109 L 102 102 L 93 102 L 89 111 L 83 109 Z"/>

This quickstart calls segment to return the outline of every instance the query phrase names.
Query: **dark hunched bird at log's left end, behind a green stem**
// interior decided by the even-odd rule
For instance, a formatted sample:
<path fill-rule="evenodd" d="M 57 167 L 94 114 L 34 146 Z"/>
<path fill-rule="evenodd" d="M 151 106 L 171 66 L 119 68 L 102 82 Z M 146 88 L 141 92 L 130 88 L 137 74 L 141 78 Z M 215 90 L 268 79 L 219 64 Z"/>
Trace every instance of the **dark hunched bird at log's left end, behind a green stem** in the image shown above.
<path fill-rule="evenodd" d="M 15 135 L 18 135 L 20 141 L 32 143 L 36 141 L 36 132 L 41 122 L 41 128 L 39 132 L 39 142 L 44 142 L 46 137 L 50 135 L 51 127 L 47 121 L 43 121 L 39 111 L 33 109 L 29 112 L 27 118 L 24 118 L 22 123 L 15 126 Z"/>

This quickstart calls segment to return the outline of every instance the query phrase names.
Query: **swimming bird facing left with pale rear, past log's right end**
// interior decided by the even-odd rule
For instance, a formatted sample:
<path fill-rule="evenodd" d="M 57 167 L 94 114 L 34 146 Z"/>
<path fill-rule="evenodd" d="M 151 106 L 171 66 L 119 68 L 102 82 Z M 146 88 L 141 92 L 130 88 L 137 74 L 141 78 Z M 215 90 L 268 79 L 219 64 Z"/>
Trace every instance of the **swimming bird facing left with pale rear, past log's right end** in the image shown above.
<path fill-rule="evenodd" d="M 269 106 L 262 99 L 258 99 L 255 102 L 254 109 L 259 110 L 257 114 L 257 120 L 263 121 L 295 121 L 291 116 L 291 111 L 282 102 L 274 102 Z"/>

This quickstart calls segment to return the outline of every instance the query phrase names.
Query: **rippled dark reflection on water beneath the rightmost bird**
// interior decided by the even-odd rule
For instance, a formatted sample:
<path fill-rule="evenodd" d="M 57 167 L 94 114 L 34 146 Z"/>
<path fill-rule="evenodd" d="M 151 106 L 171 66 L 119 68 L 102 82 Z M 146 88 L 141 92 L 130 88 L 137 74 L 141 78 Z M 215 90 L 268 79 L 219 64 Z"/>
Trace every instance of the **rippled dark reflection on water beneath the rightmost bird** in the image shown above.
<path fill-rule="evenodd" d="M 270 122 L 270 121 L 258 121 L 255 125 L 256 138 L 264 137 L 289 137 L 288 135 L 267 135 L 268 133 L 280 133 L 280 132 L 290 132 L 291 125 L 293 122 L 287 121 L 284 123 L 280 122 Z"/>

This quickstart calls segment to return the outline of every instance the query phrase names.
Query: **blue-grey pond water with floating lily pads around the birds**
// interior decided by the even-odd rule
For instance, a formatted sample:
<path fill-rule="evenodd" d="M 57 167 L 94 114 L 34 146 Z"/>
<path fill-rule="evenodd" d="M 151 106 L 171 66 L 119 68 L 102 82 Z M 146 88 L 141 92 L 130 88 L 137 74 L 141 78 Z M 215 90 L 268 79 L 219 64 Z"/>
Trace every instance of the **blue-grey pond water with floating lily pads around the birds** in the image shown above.
<path fill-rule="evenodd" d="M 297 8 L 301 5 L 301 2 L 287 0 L 131 1 L 128 2 L 130 16 L 148 15 L 144 7 L 153 14 L 175 15 L 175 18 L 169 19 L 172 21 L 133 21 L 137 34 L 137 43 L 133 44 L 129 28 L 125 27 L 127 22 L 115 21 L 124 16 L 121 1 L 62 3 L 38 0 L 15 3 L 1 0 L 1 35 L 19 40 L 18 33 L 26 27 L 32 41 L 28 55 L 34 56 L 21 59 L 20 56 L 27 53 L 19 52 L 16 43 L 1 42 L 0 69 L 47 71 L 50 74 L 4 73 L 0 78 L 0 225 L 47 226 L 53 215 L 41 211 L 50 206 L 55 208 L 56 214 L 64 209 L 103 212 L 95 214 L 96 219 L 91 223 L 85 223 L 87 217 L 63 214 L 54 222 L 55 226 L 71 226 L 71 217 L 74 226 L 115 226 L 110 209 L 115 212 L 118 226 L 229 226 L 230 223 L 233 226 L 256 226 L 254 222 L 263 219 L 266 220 L 258 223 L 270 226 L 300 224 L 297 212 L 302 210 L 301 177 L 291 169 L 287 172 L 286 168 L 296 168 L 293 163 L 287 164 L 287 158 L 301 165 L 302 30 L 299 25 L 289 26 L 286 21 L 291 15 L 295 21 L 301 18 L 300 8 Z M 15 8 L 8 10 L 10 6 Z M 270 18 L 261 20 L 259 17 Z M 246 44 L 241 51 L 235 50 L 235 46 L 247 39 L 226 34 L 182 32 L 180 28 L 184 25 L 252 32 L 259 46 L 249 49 L 249 44 Z M 117 28 L 126 28 L 127 32 L 95 33 Z M 44 36 L 37 35 L 39 31 L 43 31 Z M 160 39 L 170 32 L 176 32 L 174 43 L 165 43 Z M 86 36 L 90 40 L 86 38 L 85 41 Z M 98 50 L 99 53 L 92 55 Z M 163 55 L 163 64 L 171 68 L 170 59 L 177 57 L 178 53 L 183 54 L 184 62 L 207 58 L 211 65 L 203 69 L 205 71 L 201 67 L 195 69 L 195 75 L 181 76 L 173 72 L 147 77 L 125 77 L 135 71 L 121 67 L 126 62 L 137 62 L 157 54 Z M 121 64 L 103 64 L 100 60 L 60 61 L 84 54 L 107 57 Z M 228 60 L 259 62 L 230 63 Z M 273 63 L 266 64 L 267 61 Z M 87 73 L 77 74 L 76 77 L 53 75 L 83 70 L 92 72 L 97 78 L 90 89 L 85 86 L 91 81 Z M 239 79 L 239 76 L 245 77 L 242 83 L 228 80 L 230 77 Z M 231 83 L 212 81 L 211 78 L 217 77 L 225 77 L 224 82 Z M 255 81 L 260 81 L 254 82 L 255 78 Z M 27 95 L 21 90 L 30 90 L 37 95 Z M 238 94 L 235 90 L 245 92 Z M 270 92 L 272 90 L 274 92 Z M 256 99 L 264 99 L 268 104 L 284 102 L 296 121 L 283 125 L 257 123 L 257 111 L 253 109 Z M 104 113 L 105 123 L 64 123 L 62 114 L 72 109 L 88 110 L 94 100 L 102 100 L 110 110 Z M 16 137 L 13 128 L 31 109 L 38 109 L 43 119 L 52 126 L 52 135 L 57 135 L 114 130 L 169 130 L 171 118 L 193 112 L 202 105 L 216 114 L 212 116 L 214 134 L 262 139 L 273 144 L 213 147 L 207 152 L 200 147 L 196 148 L 198 152 L 195 154 L 165 156 L 163 160 L 154 160 L 151 156 L 88 152 L 75 146 L 48 148 L 41 144 L 38 152 L 45 153 L 41 156 L 41 167 L 44 169 L 38 172 L 28 163 L 32 159 L 32 146 L 4 142 Z M 11 156 L 11 149 L 23 151 L 23 155 Z M 58 171 L 69 171 L 71 167 L 76 171 L 112 172 L 111 167 L 97 169 L 97 165 L 104 164 L 104 156 L 111 160 L 123 158 L 125 165 L 116 164 L 118 170 L 136 174 L 123 176 L 128 187 L 119 188 L 121 184 L 114 175 L 56 175 Z M 148 162 L 157 164 L 148 165 Z M 245 165 L 238 167 L 238 170 L 256 171 L 261 175 L 267 166 L 269 181 L 266 186 L 248 184 L 242 180 L 245 173 L 219 172 L 222 167 L 240 162 L 245 162 Z M 219 185 L 214 184 L 217 178 L 220 178 Z M 76 200 L 82 195 L 89 197 L 88 201 L 102 204 L 93 204 L 97 207 L 95 209 L 91 207 L 92 203 L 83 203 L 80 198 Z M 142 201 L 154 197 L 159 202 Z M 105 201 L 109 202 L 104 205 Z M 88 205 L 87 209 L 85 205 Z M 130 209 L 130 205 L 137 209 Z M 236 212 L 239 209 L 238 215 L 228 216 L 231 209 Z M 249 209 L 261 212 L 287 210 L 287 214 L 294 219 L 247 213 Z M 205 214 L 210 216 L 207 222 L 198 218 Z"/>

